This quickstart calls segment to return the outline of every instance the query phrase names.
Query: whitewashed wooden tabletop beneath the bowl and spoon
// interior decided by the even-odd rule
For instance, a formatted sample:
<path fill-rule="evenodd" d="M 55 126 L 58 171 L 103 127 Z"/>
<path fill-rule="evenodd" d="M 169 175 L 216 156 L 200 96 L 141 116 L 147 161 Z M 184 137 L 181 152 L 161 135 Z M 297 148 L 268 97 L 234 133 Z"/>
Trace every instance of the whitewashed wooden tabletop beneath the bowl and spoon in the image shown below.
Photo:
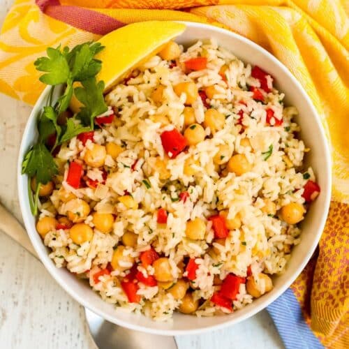
<path fill-rule="evenodd" d="M 0 0 L 0 23 L 12 0 Z M 22 221 L 16 165 L 31 108 L 0 94 L 0 201 Z M 234 327 L 177 337 L 179 349 L 283 348 L 266 311 Z M 0 347 L 96 348 L 84 309 L 62 290 L 38 260 L 0 232 Z M 126 349 L 126 348 L 125 348 Z"/>

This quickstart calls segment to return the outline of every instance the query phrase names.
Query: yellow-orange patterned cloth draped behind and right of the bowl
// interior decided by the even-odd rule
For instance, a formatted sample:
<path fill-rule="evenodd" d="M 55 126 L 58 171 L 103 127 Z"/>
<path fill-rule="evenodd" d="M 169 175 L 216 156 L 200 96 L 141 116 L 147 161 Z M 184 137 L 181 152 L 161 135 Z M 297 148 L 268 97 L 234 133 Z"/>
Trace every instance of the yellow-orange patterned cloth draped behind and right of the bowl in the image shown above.
<path fill-rule="evenodd" d="M 332 146 L 327 225 L 292 290 L 322 344 L 349 348 L 348 13 L 348 0 L 15 0 L 0 35 L 0 91 L 34 104 L 43 84 L 33 62 L 47 46 L 96 40 L 131 22 L 211 23 L 265 47 L 302 83 Z"/>

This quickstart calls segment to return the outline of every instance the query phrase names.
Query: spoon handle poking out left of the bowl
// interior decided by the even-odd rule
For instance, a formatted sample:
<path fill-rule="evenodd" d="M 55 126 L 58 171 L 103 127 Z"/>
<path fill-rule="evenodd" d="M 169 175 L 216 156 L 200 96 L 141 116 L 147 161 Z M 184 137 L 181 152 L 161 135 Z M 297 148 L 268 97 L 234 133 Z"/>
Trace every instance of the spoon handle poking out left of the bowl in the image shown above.
<path fill-rule="evenodd" d="M 38 258 L 36 251 L 34 250 L 33 245 L 30 242 L 30 239 L 27 235 L 27 231 L 24 230 L 22 224 L 10 214 L 10 212 L 3 207 L 0 203 L 0 230 L 5 232 L 6 235 L 12 237 L 18 244 L 23 246 L 28 252 L 34 255 L 35 258 Z"/>

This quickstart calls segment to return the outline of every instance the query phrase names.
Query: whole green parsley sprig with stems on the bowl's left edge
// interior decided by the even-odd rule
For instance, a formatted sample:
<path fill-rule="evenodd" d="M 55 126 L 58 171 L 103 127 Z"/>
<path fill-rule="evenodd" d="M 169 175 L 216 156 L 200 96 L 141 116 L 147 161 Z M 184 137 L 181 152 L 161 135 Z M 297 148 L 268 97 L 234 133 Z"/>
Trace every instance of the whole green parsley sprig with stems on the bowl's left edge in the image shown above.
<path fill-rule="evenodd" d="M 101 43 L 83 43 L 69 47 L 48 47 L 47 57 L 40 57 L 34 62 L 39 71 L 44 72 L 39 80 L 51 85 L 47 105 L 38 115 L 38 141 L 24 156 L 22 174 L 27 174 L 29 181 L 36 177 L 36 191 L 29 189 L 29 202 L 33 214 L 38 212 L 38 192 L 41 184 L 46 184 L 58 173 L 52 152 L 60 144 L 83 132 L 94 129 L 94 119 L 107 111 L 103 98 L 104 82 L 96 80 L 102 62 L 95 57 L 103 50 Z M 57 85 L 64 85 L 64 93 L 52 105 L 52 95 Z M 59 114 L 66 112 L 73 95 L 82 103 L 80 112 L 68 118 L 66 124 L 57 122 Z M 55 135 L 54 146 L 47 147 L 47 140 Z M 50 150 L 49 150 L 50 149 Z M 29 186 L 30 187 L 30 186 Z"/>

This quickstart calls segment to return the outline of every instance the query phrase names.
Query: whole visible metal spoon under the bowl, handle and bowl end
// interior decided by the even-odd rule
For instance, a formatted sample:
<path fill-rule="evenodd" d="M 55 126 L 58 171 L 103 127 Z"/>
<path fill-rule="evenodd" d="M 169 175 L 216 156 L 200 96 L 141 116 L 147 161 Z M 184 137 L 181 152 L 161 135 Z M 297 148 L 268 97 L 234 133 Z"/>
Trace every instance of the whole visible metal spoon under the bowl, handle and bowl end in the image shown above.
<path fill-rule="evenodd" d="M 0 230 L 40 260 L 31 245 L 27 232 L 1 203 Z M 100 349 L 177 349 L 177 343 L 173 336 L 160 336 L 120 327 L 104 320 L 87 308 L 84 310 L 91 336 Z"/>

